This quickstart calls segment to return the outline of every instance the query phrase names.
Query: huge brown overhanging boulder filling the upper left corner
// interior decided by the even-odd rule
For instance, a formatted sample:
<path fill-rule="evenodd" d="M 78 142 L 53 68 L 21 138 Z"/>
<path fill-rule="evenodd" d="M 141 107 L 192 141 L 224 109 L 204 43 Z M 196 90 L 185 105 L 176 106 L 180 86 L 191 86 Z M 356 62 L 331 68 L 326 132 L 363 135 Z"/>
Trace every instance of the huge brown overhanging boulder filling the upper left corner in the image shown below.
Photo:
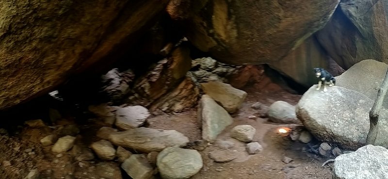
<path fill-rule="evenodd" d="M 92 64 L 112 61 L 116 49 L 133 45 L 168 1 L 0 0 L 0 110 L 47 94 Z"/>

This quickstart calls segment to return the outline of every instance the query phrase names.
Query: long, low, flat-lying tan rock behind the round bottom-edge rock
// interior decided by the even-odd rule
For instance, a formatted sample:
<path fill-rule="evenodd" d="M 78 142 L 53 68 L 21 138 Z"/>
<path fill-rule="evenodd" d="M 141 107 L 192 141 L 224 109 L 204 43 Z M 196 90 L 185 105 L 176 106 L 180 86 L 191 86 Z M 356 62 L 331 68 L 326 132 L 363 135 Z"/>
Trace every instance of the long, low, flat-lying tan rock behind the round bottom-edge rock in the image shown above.
<path fill-rule="evenodd" d="M 186 136 L 176 130 L 158 130 L 145 127 L 113 132 L 109 138 L 115 146 L 133 148 L 145 153 L 159 152 L 169 146 L 185 146 L 189 142 Z"/>

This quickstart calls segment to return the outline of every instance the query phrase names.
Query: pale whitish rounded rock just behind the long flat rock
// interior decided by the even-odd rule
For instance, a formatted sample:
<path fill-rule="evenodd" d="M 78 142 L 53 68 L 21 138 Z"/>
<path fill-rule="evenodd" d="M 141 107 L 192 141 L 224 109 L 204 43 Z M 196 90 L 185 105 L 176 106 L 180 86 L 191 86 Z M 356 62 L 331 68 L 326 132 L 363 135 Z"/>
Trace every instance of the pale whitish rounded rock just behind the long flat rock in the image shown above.
<path fill-rule="evenodd" d="M 121 130 L 138 128 L 146 122 L 149 117 L 148 109 L 143 106 L 128 106 L 116 111 L 115 125 Z"/>

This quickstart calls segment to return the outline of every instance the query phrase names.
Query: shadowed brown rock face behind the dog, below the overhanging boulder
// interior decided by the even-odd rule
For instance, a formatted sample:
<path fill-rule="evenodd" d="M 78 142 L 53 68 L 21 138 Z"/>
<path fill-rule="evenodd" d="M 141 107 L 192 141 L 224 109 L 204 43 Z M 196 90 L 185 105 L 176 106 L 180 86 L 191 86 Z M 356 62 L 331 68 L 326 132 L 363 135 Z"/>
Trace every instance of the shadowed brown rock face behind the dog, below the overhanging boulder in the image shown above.
<path fill-rule="evenodd" d="M 299 47 L 292 49 L 286 57 L 268 65 L 295 82 L 310 87 L 318 82 L 312 69 L 315 67 L 328 69 L 327 58 L 315 35 L 311 35 Z"/>

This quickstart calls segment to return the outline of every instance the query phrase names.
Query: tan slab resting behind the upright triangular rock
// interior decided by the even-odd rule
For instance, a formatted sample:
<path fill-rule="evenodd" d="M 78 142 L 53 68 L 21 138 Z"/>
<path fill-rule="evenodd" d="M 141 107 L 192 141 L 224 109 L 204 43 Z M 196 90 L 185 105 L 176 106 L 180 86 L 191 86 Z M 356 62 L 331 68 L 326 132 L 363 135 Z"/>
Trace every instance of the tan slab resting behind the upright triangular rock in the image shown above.
<path fill-rule="evenodd" d="M 245 91 L 220 81 L 201 83 L 201 86 L 205 94 L 221 104 L 228 113 L 235 113 L 247 95 Z"/>

